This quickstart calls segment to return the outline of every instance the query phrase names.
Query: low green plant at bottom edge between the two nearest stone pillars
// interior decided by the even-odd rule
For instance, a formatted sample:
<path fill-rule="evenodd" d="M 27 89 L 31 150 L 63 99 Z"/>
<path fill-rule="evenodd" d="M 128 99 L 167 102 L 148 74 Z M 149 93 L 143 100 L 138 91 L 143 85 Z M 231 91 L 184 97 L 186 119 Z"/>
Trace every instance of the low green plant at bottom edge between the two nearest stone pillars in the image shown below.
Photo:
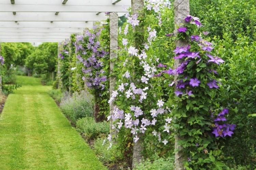
<path fill-rule="evenodd" d="M 174 158 L 160 158 L 155 155 L 153 161 L 145 160 L 143 163 L 136 166 L 135 170 L 174 170 Z"/>

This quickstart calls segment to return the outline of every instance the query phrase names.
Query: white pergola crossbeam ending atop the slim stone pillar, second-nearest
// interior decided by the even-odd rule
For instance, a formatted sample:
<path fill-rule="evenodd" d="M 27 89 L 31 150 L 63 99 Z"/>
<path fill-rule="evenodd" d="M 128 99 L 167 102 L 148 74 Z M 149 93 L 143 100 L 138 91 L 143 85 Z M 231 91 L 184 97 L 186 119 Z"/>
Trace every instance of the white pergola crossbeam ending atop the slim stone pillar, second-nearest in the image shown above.
<path fill-rule="evenodd" d="M 9 12 L 0 13 L 0 21 L 101 21 L 106 20 L 104 13 L 44 13 L 44 12 L 17 12 L 12 15 Z"/>

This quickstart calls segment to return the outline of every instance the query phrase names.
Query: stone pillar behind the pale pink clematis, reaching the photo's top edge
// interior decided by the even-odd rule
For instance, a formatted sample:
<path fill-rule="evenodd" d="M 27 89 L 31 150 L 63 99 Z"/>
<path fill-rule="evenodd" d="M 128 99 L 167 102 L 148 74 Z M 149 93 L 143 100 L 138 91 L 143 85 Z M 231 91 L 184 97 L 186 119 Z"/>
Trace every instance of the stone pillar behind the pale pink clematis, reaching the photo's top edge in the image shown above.
<path fill-rule="evenodd" d="M 144 15 L 143 8 L 144 8 L 144 0 L 131 0 L 131 7 L 133 14 L 137 14 L 138 16 Z M 144 47 L 144 28 L 141 26 L 141 22 L 139 26 L 134 28 L 134 43 L 135 47 L 139 50 L 142 50 Z M 135 71 L 135 70 L 134 70 Z M 133 146 L 133 154 L 132 154 L 132 169 L 135 168 L 136 164 L 142 162 L 143 156 L 142 151 L 143 147 L 143 134 L 138 133 L 137 136 L 140 138 Z"/>

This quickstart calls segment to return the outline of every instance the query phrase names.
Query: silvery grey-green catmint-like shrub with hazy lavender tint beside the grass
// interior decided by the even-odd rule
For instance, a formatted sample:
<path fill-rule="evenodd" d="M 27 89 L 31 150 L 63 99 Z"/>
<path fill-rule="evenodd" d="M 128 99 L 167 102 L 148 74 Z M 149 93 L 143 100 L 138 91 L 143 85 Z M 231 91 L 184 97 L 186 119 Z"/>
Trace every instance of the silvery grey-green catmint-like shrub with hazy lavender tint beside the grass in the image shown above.
<path fill-rule="evenodd" d="M 60 103 L 61 111 L 73 124 L 80 118 L 93 116 L 93 106 L 93 98 L 85 91 L 64 97 Z"/>

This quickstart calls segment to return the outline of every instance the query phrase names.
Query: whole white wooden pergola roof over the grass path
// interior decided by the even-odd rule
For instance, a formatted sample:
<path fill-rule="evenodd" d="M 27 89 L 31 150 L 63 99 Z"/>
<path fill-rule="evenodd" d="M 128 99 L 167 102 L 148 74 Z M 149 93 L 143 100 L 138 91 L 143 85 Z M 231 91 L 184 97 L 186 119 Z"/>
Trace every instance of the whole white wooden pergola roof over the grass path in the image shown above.
<path fill-rule="evenodd" d="M 122 16 L 131 0 L 0 0 L 0 42 L 61 42 L 104 12 Z"/>

